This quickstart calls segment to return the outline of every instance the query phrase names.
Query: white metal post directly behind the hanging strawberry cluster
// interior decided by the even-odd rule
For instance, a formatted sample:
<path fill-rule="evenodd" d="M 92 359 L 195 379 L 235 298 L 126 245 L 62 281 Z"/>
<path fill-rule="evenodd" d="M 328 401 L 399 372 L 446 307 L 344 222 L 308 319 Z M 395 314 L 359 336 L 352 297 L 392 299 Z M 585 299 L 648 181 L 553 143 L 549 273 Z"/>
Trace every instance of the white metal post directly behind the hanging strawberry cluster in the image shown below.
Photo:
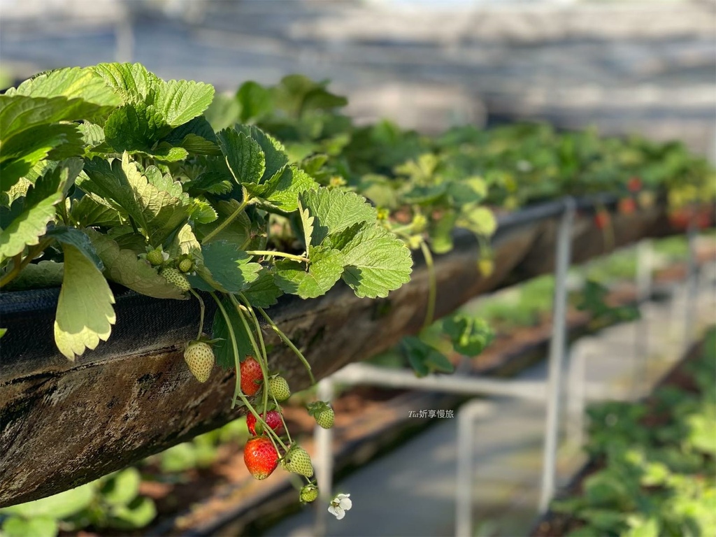
<path fill-rule="evenodd" d="M 318 398 L 330 402 L 334 395 L 333 380 L 328 377 L 318 383 Z M 314 469 L 316 470 L 316 485 L 319 490 L 319 501 L 316 502 L 316 520 L 314 521 L 314 536 L 326 535 L 326 505 L 332 500 L 333 488 L 333 430 L 324 429 L 316 425 L 314 429 L 316 441 L 316 457 Z"/>

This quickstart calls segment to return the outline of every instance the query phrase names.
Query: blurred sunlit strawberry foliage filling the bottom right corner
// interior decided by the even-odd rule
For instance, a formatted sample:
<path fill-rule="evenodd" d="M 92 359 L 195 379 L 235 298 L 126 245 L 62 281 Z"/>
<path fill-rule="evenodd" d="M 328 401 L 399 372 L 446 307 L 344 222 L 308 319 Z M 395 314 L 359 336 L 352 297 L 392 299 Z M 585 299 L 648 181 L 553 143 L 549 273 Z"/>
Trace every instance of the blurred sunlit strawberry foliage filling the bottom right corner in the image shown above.
<path fill-rule="evenodd" d="M 570 536 L 710 533 L 716 524 L 715 364 L 711 329 L 699 359 L 684 368 L 699 392 L 667 385 L 647 402 L 590 408 L 586 450 L 601 462 L 599 469 L 583 480 L 579 494 L 551 505 L 571 516 Z"/>

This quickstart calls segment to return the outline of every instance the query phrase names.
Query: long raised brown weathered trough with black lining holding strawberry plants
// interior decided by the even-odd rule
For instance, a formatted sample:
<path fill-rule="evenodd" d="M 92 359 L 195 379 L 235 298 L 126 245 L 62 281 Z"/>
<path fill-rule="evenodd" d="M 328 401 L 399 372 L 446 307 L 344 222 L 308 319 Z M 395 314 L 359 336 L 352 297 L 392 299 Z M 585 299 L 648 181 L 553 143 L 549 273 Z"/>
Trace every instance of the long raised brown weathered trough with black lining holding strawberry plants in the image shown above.
<path fill-rule="evenodd" d="M 674 233 L 663 207 L 615 214 L 614 241 L 594 226 L 594 203 L 580 200 L 572 234 L 573 262 L 586 261 L 641 238 Z M 614 200 L 601 198 L 600 206 Z M 455 233 L 455 248 L 436 256 L 436 317 L 473 297 L 553 269 L 563 201 L 499 218 L 493 238 L 495 271 L 478 272 L 478 245 Z M 409 284 L 386 299 L 358 299 L 337 286 L 314 300 L 284 297 L 271 308 L 276 324 L 304 350 L 316 379 L 417 333 L 425 317 L 428 274 L 416 258 Z M 115 292 L 117 324 L 109 342 L 69 362 L 54 347 L 59 289 L 0 295 L 0 506 L 59 493 L 124 468 L 237 417 L 229 410 L 233 371 L 216 368 L 198 384 L 183 363 L 183 343 L 195 336 L 196 301 L 150 299 Z M 213 316 L 207 301 L 208 319 Z M 211 326 L 211 325 L 208 325 Z M 309 379 L 273 332 L 271 367 L 294 390 Z"/>

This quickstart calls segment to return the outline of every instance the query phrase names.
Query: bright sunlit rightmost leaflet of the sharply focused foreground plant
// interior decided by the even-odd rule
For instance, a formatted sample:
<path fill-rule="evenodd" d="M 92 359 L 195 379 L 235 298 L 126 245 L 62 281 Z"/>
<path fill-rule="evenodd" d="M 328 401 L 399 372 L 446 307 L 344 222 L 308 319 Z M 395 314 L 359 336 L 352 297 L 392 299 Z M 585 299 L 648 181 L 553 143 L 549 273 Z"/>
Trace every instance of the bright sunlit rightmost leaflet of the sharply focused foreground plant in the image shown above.
<path fill-rule="evenodd" d="M 343 281 L 356 296 L 372 299 L 387 296 L 389 291 L 410 281 L 410 250 L 390 231 L 371 223 L 355 224 L 326 241 L 343 253 Z"/>

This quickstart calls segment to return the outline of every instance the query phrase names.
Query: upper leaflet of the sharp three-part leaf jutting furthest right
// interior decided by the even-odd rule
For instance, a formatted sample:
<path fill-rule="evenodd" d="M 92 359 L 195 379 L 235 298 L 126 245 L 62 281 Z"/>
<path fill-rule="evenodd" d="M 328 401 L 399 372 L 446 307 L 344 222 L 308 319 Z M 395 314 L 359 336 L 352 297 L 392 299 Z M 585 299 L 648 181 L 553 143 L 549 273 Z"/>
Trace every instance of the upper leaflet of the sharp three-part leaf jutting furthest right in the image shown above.
<path fill-rule="evenodd" d="M 355 223 L 374 222 L 375 209 L 352 192 L 319 188 L 301 193 L 301 206 L 314 217 L 311 242 L 319 245 L 329 233 L 338 233 Z"/>

